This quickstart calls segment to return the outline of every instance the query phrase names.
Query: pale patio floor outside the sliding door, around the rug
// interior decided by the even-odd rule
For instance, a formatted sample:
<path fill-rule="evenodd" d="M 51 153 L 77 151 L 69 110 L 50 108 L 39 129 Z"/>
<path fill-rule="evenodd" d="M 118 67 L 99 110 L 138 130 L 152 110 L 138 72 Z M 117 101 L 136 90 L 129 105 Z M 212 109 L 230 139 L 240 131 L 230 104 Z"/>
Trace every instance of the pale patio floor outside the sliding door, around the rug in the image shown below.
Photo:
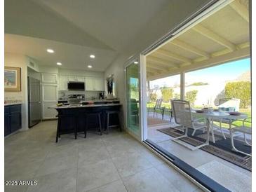
<path fill-rule="evenodd" d="M 159 117 L 161 117 L 161 115 L 159 115 Z M 149 113 L 149 118 L 153 118 L 152 113 Z M 184 162 L 188 163 L 192 167 L 203 172 L 208 177 L 229 188 L 229 190 L 250 191 L 251 172 L 249 170 L 224 160 L 224 158 L 220 158 L 219 156 L 209 153 L 204 149 L 191 151 L 190 149 L 187 149 L 187 147 L 173 142 L 172 136 L 159 131 L 171 129 L 170 127 L 175 127 L 175 125 L 177 125 L 175 123 L 170 123 L 170 120 L 166 123 L 168 119 L 168 116 L 164 116 L 165 121 L 162 121 L 163 123 L 154 126 L 149 125 L 147 129 L 148 139 L 163 147 L 163 149 L 166 149 L 181 160 L 184 160 Z M 161 121 L 161 118 L 159 121 Z M 216 132 L 216 134 L 219 135 L 221 133 Z M 222 170 L 222 177 L 220 177 L 220 170 Z"/>

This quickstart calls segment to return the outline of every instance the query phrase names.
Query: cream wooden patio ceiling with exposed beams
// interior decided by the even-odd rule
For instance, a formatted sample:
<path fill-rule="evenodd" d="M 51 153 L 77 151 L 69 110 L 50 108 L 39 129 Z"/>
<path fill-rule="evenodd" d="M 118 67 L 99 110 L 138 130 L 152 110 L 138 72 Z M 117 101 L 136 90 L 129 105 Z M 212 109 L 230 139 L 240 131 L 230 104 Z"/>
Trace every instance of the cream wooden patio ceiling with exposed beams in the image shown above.
<path fill-rule="evenodd" d="M 235 0 L 146 57 L 147 80 L 250 56 L 248 0 Z"/>

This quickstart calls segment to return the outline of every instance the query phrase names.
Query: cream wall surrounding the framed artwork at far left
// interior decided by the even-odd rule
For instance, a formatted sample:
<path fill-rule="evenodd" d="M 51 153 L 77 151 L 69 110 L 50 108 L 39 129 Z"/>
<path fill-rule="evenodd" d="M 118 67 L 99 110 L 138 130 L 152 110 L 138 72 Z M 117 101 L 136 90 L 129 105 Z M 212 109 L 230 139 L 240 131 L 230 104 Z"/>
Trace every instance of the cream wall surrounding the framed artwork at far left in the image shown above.
<path fill-rule="evenodd" d="M 22 129 L 28 130 L 28 109 L 27 109 L 27 64 L 28 58 L 25 55 L 4 53 L 4 66 L 21 68 L 21 91 L 4 92 L 5 100 L 22 101 Z"/>

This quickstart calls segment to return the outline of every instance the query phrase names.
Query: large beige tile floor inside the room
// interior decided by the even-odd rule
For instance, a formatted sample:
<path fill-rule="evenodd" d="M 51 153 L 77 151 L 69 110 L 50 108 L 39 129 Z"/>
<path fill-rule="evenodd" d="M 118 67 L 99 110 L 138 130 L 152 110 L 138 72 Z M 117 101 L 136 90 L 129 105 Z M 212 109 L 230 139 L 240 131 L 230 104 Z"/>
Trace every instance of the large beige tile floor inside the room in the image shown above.
<path fill-rule="evenodd" d="M 62 135 L 55 144 L 56 124 L 5 139 L 5 180 L 37 181 L 5 191 L 201 191 L 126 132 Z"/>

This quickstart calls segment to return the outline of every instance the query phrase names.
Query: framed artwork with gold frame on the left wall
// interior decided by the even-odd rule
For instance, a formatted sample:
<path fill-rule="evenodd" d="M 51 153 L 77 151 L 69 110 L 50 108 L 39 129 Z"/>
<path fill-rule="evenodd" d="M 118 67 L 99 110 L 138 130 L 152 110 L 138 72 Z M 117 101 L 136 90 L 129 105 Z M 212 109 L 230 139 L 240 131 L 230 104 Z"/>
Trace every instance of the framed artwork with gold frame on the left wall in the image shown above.
<path fill-rule="evenodd" d="M 21 91 L 19 67 L 4 67 L 4 91 Z"/>

